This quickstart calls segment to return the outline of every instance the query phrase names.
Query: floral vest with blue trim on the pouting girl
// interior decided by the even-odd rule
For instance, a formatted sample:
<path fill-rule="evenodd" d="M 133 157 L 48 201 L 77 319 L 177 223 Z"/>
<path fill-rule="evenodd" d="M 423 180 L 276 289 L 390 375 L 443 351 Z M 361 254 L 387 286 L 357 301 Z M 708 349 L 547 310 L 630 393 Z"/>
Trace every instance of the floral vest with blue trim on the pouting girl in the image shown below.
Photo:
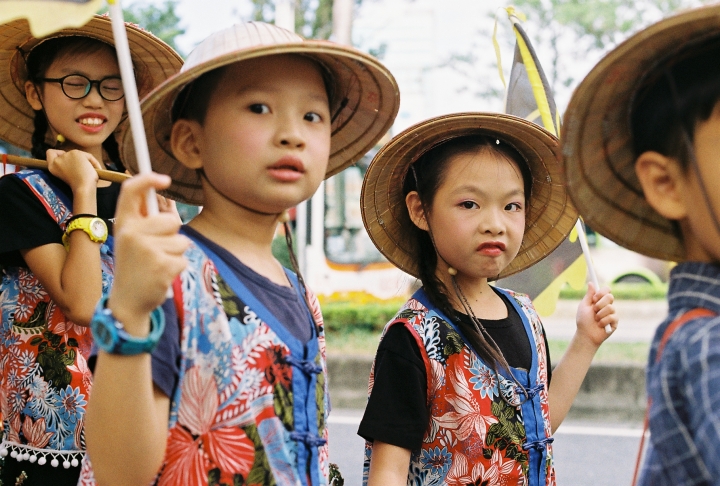
<path fill-rule="evenodd" d="M 496 374 L 458 327 L 418 290 L 386 326 L 407 328 L 425 362 L 430 423 L 412 451 L 408 485 L 554 485 L 545 341 L 537 313 L 522 294 L 498 289 L 522 318 L 532 344 L 529 371 L 513 368 L 514 381 Z M 384 333 L 383 333 L 384 334 Z M 373 386 L 370 374 L 369 391 Z M 363 484 L 372 455 L 365 445 Z"/>

